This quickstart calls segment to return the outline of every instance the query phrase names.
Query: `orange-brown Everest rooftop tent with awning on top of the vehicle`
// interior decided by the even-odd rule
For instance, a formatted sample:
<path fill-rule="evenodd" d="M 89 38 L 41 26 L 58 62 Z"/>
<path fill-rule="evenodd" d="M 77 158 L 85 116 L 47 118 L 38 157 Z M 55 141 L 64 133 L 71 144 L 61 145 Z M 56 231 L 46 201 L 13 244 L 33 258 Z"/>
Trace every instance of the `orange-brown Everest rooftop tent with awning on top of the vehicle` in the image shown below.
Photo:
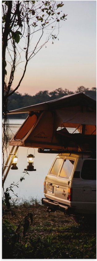
<path fill-rule="evenodd" d="M 10 145 L 59 150 L 95 150 L 96 101 L 83 93 L 10 111 L 28 117 Z"/>

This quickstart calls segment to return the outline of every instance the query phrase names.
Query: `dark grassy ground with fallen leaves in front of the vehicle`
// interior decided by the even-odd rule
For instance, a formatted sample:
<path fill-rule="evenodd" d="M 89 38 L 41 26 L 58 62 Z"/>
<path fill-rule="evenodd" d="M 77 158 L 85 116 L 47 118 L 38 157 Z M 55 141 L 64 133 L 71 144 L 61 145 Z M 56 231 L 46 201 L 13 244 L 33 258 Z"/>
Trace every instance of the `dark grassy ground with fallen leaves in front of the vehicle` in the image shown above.
<path fill-rule="evenodd" d="M 95 223 L 46 209 L 36 200 L 4 207 L 2 258 L 96 259 Z"/>

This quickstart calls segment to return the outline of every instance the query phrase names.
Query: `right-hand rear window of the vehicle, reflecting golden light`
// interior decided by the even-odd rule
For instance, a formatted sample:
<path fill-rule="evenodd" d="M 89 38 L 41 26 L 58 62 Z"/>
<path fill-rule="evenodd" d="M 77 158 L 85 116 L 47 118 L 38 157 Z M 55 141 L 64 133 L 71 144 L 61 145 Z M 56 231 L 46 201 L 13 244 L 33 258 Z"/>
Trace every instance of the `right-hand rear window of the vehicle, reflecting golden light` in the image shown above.
<path fill-rule="evenodd" d="M 59 176 L 69 178 L 73 169 L 73 165 L 74 165 L 74 160 L 66 159 L 63 163 Z"/>

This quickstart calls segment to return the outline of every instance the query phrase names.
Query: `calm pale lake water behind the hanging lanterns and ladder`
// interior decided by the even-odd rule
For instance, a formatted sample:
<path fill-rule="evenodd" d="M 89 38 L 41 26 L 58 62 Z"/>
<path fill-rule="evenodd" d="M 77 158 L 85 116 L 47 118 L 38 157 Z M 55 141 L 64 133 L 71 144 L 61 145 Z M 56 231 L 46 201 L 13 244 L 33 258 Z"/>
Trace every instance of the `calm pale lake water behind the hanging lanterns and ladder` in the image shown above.
<path fill-rule="evenodd" d="M 24 119 L 10 119 L 10 132 L 9 139 L 19 130 L 19 127 L 23 123 Z M 9 146 L 7 149 L 7 153 L 9 155 L 12 146 Z M 15 184 L 20 180 L 21 177 L 25 175 L 24 168 L 27 167 L 27 150 L 28 154 L 34 154 L 33 148 L 19 147 L 18 149 L 18 170 L 11 170 L 8 172 L 6 177 L 6 181 L 4 183 L 4 189 L 9 187 L 13 181 Z M 16 154 L 17 155 L 17 154 Z M 51 164 L 53 163 L 54 158 L 57 154 L 45 154 L 38 153 L 38 149 L 35 149 L 35 159 L 34 159 L 34 168 L 36 171 L 28 172 L 24 176 L 24 180 L 22 182 L 18 182 L 19 188 L 14 187 L 14 193 L 18 195 L 19 200 L 30 200 L 30 198 L 41 199 L 44 197 L 43 189 L 44 189 L 44 178 L 47 175 Z M 6 161 L 6 153 L 5 153 L 5 161 Z M 13 192 L 11 192 L 13 195 Z M 14 198 L 17 198 L 14 196 Z"/>

